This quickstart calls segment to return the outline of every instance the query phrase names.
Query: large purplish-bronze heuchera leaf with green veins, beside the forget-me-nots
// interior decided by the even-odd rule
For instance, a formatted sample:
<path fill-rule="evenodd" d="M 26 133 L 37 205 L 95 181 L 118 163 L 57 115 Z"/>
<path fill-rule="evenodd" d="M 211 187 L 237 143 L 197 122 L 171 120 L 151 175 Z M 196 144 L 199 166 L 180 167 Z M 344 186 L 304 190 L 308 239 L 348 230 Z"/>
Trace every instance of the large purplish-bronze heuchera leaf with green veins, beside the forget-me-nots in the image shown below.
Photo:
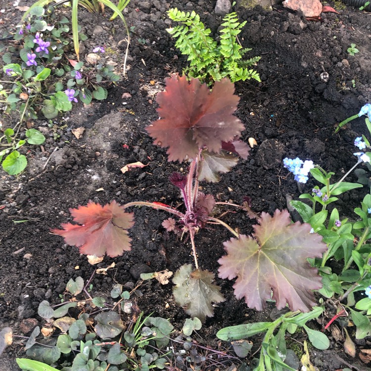
<path fill-rule="evenodd" d="M 276 210 L 273 217 L 262 213 L 258 222 L 254 238 L 240 235 L 224 242 L 228 255 L 219 259 L 219 277 L 237 277 L 234 294 L 245 297 L 250 308 L 264 309 L 273 291 L 278 309 L 288 303 L 292 311 L 308 312 L 316 304 L 312 290 L 322 287 L 322 279 L 307 258 L 322 257 L 322 236 L 310 233 L 309 224 L 290 224 L 287 210 Z"/>

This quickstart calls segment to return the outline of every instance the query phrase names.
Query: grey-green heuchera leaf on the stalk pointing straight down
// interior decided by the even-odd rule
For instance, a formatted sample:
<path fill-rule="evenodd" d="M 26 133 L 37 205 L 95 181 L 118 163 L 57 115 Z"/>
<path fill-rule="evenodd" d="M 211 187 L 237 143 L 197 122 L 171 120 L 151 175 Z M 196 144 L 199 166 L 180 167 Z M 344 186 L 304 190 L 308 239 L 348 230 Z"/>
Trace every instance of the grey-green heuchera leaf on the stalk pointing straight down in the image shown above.
<path fill-rule="evenodd" d="M 183 307 L 185 313 L 201 322 L 206 317 L 214 316 L 212 303 L 224 301 L 220 287 L 213 284 L 214 276 L 208 271 L 193 270 L 190 264 L 184 264 L 173 278 L 175 302 Z"/>

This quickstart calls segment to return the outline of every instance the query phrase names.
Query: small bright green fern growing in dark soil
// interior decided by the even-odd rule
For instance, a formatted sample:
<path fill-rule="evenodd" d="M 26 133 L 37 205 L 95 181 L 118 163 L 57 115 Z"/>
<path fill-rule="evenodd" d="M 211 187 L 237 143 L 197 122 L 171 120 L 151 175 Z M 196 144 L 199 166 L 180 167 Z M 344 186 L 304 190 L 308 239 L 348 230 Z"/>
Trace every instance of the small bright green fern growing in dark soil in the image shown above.
<path fill-rule="evenodd" d="M 260 57 L 241 59 L 251 48 L 242 48 L 238 42 L 237 35 L 246 21 L 239 23 L 235 12 L 223 18 L 219 46 L 209 36 L 211 30 L 205 29 L 199 15 L 194 11 L 185 13 L 173 8 L 168 10 L 168 15 L 171 20 L 181 23 L 167 31 L 177 39 L 175 46 L 181 53 L 188 55 L 189 67 L 183 72 L 189 77 L 198 78 L 209 84 L 223 77 L 229 77 L 232 82 L 251 78 L 260 81 L 259 74 L 248 68 Z"/>

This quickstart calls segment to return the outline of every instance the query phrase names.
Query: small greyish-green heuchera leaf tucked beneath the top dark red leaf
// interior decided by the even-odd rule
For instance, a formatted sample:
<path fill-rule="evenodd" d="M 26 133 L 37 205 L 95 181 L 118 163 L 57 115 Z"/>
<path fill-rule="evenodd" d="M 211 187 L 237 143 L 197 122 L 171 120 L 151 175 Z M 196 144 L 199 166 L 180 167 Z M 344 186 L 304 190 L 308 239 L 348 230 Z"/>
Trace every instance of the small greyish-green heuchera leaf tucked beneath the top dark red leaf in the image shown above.
<path fill-rule="evenodd" d="M 212 183 L 219 182 L 220 176 L 218 173 L 228 173 L 237 162 L 238 159 L 235 156 L 225 151 L 220 153 L 203 151 L 198 180 Z"/>

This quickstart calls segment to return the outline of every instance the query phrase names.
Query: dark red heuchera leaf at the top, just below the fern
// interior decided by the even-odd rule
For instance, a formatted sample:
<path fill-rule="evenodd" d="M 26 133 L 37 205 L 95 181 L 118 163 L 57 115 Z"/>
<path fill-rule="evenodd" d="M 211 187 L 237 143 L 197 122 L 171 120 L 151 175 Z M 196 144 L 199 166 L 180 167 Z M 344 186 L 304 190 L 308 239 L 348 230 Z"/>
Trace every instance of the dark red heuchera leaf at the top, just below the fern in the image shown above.
<path fill-rule="evenodd" d="M 202 148 L 218 153 L 222 141 L 239 137 L 244 127 L 233 116 L 239 97 L 227 78 L 217 81 L 212 92 L 198 79 L 185 76 L 166 79 L 166 91 L 157 94 L 159 120 L 146 127 L 161 147 L 169 147 L 169 161 L 195 158 Z"/>

